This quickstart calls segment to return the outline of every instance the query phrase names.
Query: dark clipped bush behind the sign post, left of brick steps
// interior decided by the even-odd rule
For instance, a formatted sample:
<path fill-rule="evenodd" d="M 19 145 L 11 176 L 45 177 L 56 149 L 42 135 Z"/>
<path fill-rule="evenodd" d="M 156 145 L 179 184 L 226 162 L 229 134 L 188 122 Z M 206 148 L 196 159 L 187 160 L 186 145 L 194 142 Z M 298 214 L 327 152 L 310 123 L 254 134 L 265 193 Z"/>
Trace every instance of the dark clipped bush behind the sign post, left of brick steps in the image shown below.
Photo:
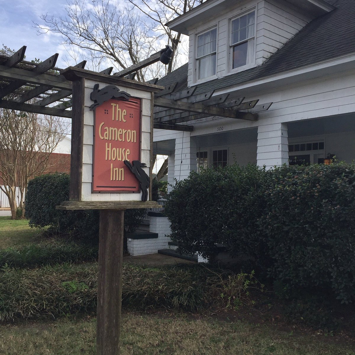
<path fill-rule="evenodd" d="M 70 234 L 85 241 L 98 241 L 99 211 L 62 211 L 55 209 L 62 201 L 69 200 L 68 174 L 47 174 L 28 182 L 26 193 L 26 217 L 35 228 L 49 226 L 56 233 Z M 134 231 L 145 215 L 144 209 L 127 209 L 125 227 Z"/>

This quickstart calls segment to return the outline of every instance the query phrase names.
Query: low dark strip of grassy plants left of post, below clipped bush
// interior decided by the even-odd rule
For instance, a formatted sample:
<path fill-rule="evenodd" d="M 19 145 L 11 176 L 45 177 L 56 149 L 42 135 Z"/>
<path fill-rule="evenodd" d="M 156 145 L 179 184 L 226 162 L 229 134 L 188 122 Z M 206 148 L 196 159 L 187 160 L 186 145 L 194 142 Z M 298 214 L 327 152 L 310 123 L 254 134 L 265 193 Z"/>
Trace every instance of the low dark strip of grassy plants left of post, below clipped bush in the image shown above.
<path fill-rule="evenodd" d="M 0 250 L 0 267 L 39 267 L 66 262 L 92 261 L 98 257 L 98 248 L 74 242 L 46 241 Z"/>

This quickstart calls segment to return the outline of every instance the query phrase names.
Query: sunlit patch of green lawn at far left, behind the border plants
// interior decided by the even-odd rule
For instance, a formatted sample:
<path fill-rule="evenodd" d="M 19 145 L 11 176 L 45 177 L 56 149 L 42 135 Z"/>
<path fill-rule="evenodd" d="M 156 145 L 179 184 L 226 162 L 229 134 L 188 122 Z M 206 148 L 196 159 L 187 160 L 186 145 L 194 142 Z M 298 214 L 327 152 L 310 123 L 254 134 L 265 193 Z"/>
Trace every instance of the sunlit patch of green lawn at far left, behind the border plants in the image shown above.
<path fill-rule="evenodd" d="M 29 228 L 27 219 L 0 217 L 0 249 L 39 240 L 41 230 Z"/>

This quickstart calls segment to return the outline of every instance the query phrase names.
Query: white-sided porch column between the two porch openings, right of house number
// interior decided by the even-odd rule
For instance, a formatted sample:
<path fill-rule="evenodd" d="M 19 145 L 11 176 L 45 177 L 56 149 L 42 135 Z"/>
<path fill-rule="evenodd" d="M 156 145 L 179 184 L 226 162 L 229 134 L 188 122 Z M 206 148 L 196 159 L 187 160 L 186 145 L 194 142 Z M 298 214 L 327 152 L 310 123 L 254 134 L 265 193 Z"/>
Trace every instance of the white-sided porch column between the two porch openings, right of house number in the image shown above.
<path fill-rule="evenodd" d="M 288 133 L 286 123 L 258 127 L 257 165 L 273 166 L 288 164 Z"/>

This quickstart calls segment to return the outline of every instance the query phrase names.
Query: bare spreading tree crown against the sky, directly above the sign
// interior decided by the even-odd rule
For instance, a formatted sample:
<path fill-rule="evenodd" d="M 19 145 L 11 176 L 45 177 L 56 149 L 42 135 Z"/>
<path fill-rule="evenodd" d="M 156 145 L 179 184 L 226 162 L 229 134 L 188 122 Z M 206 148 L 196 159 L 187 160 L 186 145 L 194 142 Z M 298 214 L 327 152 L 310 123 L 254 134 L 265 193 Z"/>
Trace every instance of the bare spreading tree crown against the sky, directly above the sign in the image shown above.
<path fill-rule="evenodd" d="M 62 44 L 77 48 L 93 65 L 108 60 L 122 70 L 154 51 L 149 28 L 132 6 L 109 0 L 73 0 L 65 10 L 65 17 L 41 15 L 44 24 L 36 23 L 38 32 L 61 34 Z M 137 80 L 144 81 L 144 72 L 137 73 Z"/>

